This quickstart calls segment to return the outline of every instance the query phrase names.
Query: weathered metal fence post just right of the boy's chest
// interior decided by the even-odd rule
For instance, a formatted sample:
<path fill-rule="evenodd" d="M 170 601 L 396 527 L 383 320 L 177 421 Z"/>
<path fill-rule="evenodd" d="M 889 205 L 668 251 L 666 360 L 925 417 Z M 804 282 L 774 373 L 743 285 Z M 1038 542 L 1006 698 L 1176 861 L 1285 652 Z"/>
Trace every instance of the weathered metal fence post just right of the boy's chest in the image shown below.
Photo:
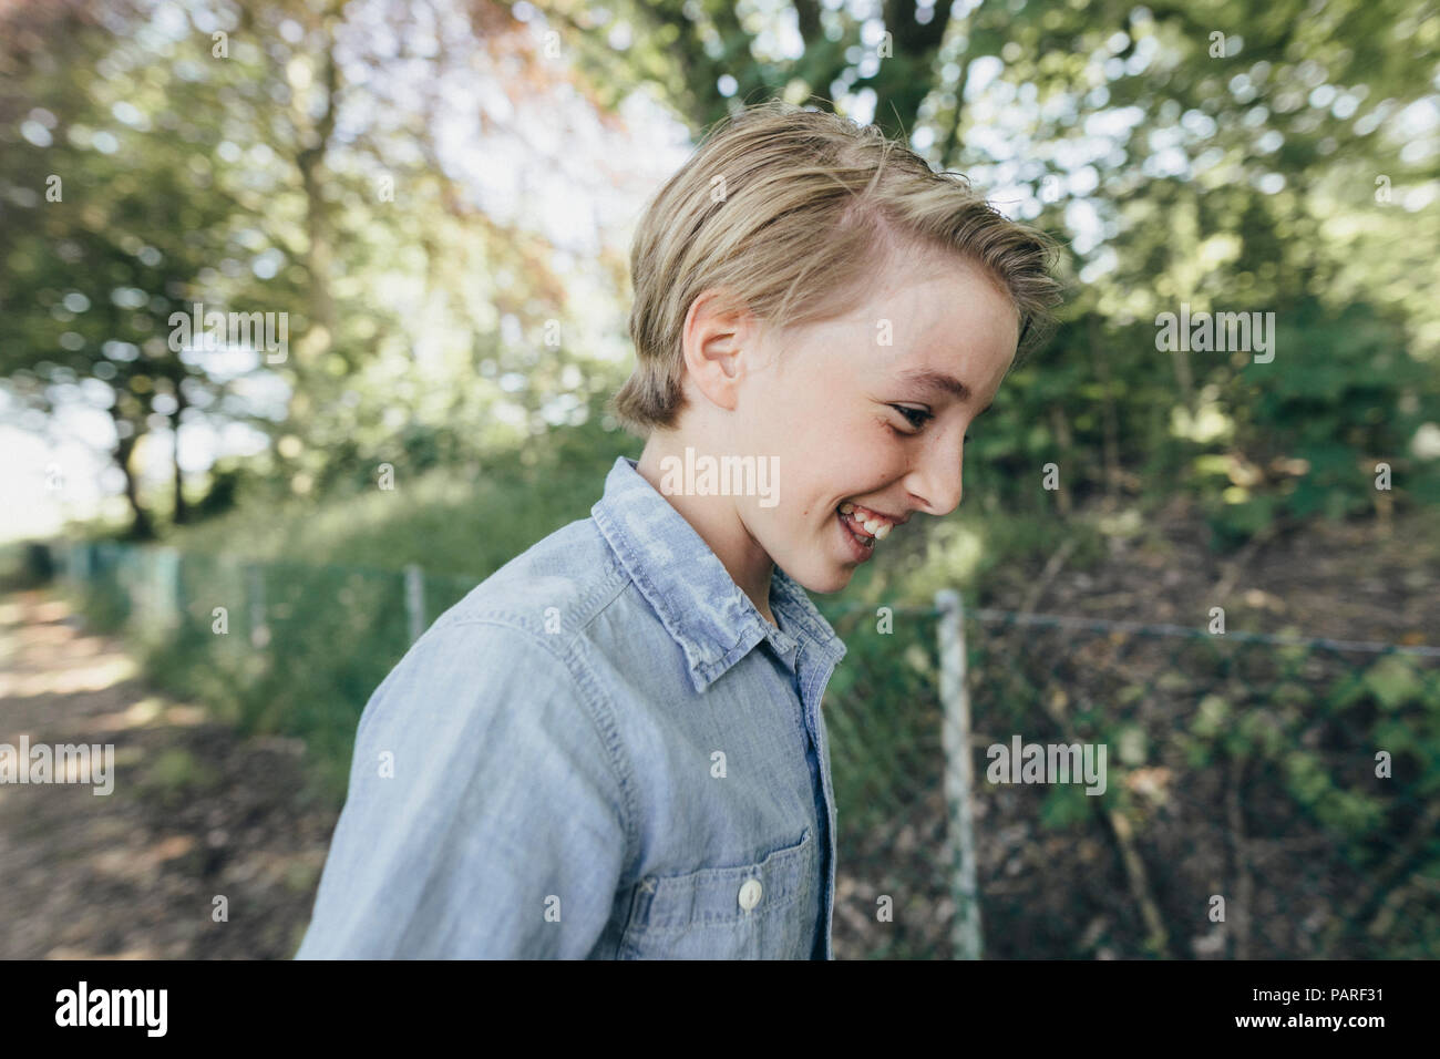
<path fill-rule="evenodd" d="M 965 690 L 965 607 L 960 594 L 935 594 L 940 612 L 940 739 L 945 746 L 945 805 L 950 846 L 950 942 L 956 960 L 981 958 L 981 908 L 975 889 L 975 820 L 971 805 L 971 699 Z"/>

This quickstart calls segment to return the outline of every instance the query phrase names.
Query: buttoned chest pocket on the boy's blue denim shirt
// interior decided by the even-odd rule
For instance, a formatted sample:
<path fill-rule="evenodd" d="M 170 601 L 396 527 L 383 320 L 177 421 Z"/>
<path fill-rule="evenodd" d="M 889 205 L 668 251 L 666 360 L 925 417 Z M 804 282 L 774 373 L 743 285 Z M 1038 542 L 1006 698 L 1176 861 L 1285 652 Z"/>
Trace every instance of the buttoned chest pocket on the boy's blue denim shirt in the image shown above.
<path fill-rule="evenodd" d="M 819 918 L 814 839 L 753 864 L 649 875 L 635 886 L 621 960 L 808 960 Z"/>

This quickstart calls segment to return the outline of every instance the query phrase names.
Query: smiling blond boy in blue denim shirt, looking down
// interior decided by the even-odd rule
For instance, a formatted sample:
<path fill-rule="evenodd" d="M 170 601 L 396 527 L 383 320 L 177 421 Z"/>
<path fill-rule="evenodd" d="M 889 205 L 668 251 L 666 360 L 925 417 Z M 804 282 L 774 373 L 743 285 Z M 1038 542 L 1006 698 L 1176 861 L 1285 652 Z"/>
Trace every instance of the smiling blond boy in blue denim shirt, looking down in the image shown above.
<path fill-rule="evenodd" d="M 959 504 L 1051 254 L 873 127 L 723 122 L 635 238 L 639 460 L 372 696 L 297 957 L 831 958 L 845 645 L 805 591 Z"/>

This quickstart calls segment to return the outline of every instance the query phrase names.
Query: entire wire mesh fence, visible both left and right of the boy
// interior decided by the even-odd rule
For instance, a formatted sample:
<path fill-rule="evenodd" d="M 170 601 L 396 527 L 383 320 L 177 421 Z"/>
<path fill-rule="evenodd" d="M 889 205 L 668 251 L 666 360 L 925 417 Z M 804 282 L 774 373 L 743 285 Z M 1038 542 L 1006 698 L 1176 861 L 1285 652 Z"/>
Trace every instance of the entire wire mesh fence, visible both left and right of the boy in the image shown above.
<path fill-rule="evenodd" d="M 354 725 L 475 581 L 112 543 L 101 628 L 343 792 Z M 837 958 L 1433 958 L 1440 648 L 828 607 Z"/>

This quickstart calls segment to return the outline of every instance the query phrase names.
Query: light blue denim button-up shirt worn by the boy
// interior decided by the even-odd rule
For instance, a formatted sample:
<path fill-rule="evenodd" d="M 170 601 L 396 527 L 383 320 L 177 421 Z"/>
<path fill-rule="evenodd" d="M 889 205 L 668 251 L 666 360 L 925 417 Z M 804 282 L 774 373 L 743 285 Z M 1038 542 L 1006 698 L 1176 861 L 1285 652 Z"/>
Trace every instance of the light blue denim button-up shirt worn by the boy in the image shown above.
<path fill-rule="evenodd" d="M 366 703 L 295 958 L 829 960 L 845 644 L 770 609 L 619 457 Z"/>

